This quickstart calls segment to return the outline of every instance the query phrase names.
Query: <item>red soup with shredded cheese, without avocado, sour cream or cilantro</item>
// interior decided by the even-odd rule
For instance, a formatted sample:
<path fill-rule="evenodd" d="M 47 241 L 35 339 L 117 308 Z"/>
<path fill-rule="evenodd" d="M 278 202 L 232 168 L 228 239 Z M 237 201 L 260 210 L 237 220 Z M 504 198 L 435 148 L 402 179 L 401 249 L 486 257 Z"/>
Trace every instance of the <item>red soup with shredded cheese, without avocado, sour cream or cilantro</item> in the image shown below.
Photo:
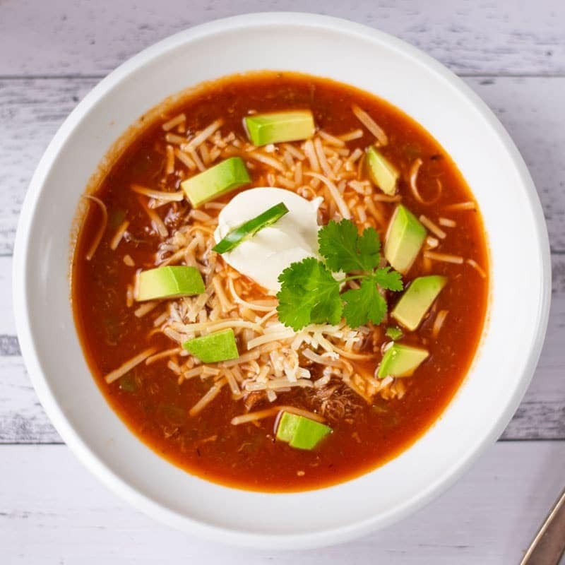
<path fill-rule="evenodd" d="M 311 112 L 313 136 L 251 145 L 244 117 L 292 109 Z M 371 172 L 371 147 L 394 173 L 388 194 Z M 182 183 L 230 157 L 242 157 L 250 182 L 191 206 Z M 425 239 L 402 273 L 404 288 L 424 276 L 446 278 L 417 327 L 392 316 L 402 294 L 383 288 L 388 312 L 381 323 L 347 324 L 338 316 L 338 323 L 313 317 L 317 323 L 299 329 L 285 325 L 276 289 L 211 249 L 218 215 L 234 196 L 270 186 L 316 202 L 320 226 L 350 218 L 359 232 L 374 228 L 383 246 L 398 206 L 410 210 Z M 163 107 L 88 198 L 72 270 L 85 356 L 131 431 L 188 472 L 275 492 L 348 480 L 410 446 L 470 367 L 489 286 L 480 212 L 443 148 L 373 95 L 293 73 L 209 83 Z M 196 267 L 205 292 L 138 300 L 140 270 L 166 265 Z M 381 258 L 379 268 L 386 265 Z M 359 290 L 364 276 L 345 270 L 352 275 L 341 283 L 342 296 Z M 183 347 L 230 328 L 237 359 L 202 362 Z M 427 353 L 411 375 L 379 374 L 393 342 Z M 215 352 L 221 357 L 222 346 Z M 284 412 L 331 432 L 312 448 L 293 447 L 277 438 Z"/>

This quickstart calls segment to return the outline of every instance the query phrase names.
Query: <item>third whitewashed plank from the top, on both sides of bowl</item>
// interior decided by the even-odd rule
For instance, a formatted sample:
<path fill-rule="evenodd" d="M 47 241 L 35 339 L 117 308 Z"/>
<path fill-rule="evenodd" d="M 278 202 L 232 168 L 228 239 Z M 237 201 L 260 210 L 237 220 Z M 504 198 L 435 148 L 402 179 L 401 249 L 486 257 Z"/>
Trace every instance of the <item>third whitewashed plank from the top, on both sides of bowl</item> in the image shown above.
<path fill-rule="evenodd" d="M 11 258 L 0 257 L 0 273 L 10 270 Z M 565 255 L 553 256 L 553 275 L 553 303 L 544 350 L 530 388 L 502 436 L 506 440 L 565 439 Z M 9 292 L 9 287 L 0 285 L 0 296 L 9 297 Z M 2 328 L 13 328 L 11 313 L 8 316 L 9 321 L 0 322 L 0 444 L 60 442 L 35 396 L 16 337 L 2 335 Z"/>

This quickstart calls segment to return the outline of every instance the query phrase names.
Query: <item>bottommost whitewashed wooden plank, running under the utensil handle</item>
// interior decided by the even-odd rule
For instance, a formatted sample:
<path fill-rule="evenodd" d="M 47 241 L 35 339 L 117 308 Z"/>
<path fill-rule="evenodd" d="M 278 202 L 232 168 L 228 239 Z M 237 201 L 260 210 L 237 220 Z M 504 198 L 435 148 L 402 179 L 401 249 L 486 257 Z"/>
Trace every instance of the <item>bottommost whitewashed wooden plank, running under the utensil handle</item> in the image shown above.
<path fill-rule="evenodd" d="M 7 563 L 113 564 L 126 555 L 147 564 L 499 565 L 518 563 L 559 494 L 565 442 L 496 444 L 413 516 L 346 545 L 303 552 L 251 552 L 169 530 L 103 488 L 65 446 L 1 446 L 0 457 Z"/>

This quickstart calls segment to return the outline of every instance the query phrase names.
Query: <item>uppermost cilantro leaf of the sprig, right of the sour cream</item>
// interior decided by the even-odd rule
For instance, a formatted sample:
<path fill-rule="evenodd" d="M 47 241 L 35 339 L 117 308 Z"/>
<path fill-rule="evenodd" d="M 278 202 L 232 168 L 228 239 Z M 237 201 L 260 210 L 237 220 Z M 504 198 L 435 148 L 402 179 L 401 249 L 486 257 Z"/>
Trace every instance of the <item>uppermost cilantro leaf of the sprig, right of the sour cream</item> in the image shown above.
<path fill-rule="evenodd" d="M 359 236 L 357 226 L 351 220 L 331 221 L 318 232 L 320 254 L 333 271 L 373 270 L 381 256 L 379 234 L 367 227 Z"/>

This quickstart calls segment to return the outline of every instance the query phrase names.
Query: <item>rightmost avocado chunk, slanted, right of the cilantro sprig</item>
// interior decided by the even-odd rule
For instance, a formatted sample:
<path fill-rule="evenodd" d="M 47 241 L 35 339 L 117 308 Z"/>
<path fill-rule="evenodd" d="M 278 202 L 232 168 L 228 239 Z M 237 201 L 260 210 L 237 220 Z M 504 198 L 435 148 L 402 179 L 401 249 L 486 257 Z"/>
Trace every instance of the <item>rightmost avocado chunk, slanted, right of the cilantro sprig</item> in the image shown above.
<path fill-rule="evenodd" d="M 391 316 L 405 328 L 414 331 L 420 326 L 426 312 L 446 283 L 447 278 L 440 275 L 415 278 L 396 303 Z"/>

